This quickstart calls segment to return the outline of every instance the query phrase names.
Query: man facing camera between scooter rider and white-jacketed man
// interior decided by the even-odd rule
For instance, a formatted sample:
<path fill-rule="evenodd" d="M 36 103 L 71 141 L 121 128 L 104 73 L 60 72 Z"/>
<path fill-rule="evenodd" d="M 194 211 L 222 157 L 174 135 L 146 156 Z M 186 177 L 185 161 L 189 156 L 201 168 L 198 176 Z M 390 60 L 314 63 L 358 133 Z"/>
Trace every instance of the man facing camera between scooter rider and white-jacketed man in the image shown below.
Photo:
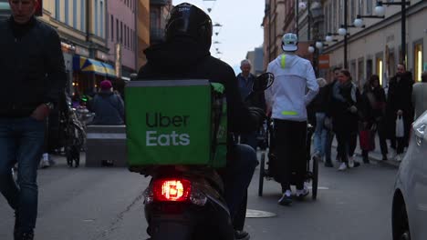
<path fill-rule="evenodd" d="M 237 82 L 242 102 L 247 106 L 256 106 L 266 111 L 266 98 L 264 93 L 254 93 L 248 98 L 252 92 L 252 87 L 256 78 L 255 75 L 251 74 L 251 68 L 251 62 L 248 59 L 245 59 L 240 64 L 242 73 L 237 75 Z M 238 139 L 240 137 L 240 144 L 250 145 L 256 151 L 256 135 L 257 131 L 253 131 L 247 134 L 236 135 L 235 138 Z"/>

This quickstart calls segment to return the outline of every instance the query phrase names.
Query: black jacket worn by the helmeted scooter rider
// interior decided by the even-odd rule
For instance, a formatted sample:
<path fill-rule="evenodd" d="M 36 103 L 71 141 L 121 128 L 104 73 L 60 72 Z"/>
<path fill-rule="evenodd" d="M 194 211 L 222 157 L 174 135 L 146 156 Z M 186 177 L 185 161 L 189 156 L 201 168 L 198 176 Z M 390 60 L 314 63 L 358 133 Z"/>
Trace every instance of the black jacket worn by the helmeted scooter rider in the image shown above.
<path fill-rule="evenodd" d="M 255 119 L 242 102 L 233 68 L 214 58 L 209 48 L 188 39 L 153 45 L 144 51 L 147 65 L 138 79 L 209 79 L 225 86 L 228 131 L 247 133 L 256 129 Z"/>

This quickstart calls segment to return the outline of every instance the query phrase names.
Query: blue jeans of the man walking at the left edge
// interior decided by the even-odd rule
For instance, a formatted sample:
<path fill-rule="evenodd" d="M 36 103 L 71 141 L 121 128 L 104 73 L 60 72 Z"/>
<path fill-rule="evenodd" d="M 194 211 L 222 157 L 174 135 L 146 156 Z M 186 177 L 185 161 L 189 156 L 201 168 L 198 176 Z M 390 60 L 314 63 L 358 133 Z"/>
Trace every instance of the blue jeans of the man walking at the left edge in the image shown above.
<path fill-rule="evenodd" d="M 36 173 L 45 135 L 45 122 L 31 117 L 0 118 L 0 192 L 19 215 L 17 228 L 36 227 Z M 18 164 L 17 183 L 12 167 Z"/>

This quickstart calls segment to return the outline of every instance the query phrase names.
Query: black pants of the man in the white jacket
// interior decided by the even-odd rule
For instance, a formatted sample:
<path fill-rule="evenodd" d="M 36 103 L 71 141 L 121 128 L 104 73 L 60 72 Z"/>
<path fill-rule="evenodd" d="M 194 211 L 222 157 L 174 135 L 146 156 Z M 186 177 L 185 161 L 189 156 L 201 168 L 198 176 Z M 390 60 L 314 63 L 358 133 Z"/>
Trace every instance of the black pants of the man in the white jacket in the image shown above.
<path fill-rule="evenodd" d="M 290 189 L 291 183 L 295 183 L 297 189 L 303 189 L 307 172 L 307 122 L 275 119 L 275 134 L 280 173 L 277 178 L 282 189 Z"/>

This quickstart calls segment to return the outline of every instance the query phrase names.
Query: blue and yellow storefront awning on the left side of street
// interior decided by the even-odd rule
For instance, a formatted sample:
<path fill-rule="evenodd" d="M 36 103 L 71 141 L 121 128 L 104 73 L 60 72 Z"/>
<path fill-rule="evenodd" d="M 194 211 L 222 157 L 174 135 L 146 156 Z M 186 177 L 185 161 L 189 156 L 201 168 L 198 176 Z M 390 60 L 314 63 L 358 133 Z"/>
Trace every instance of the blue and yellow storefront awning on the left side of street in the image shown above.
<path fill-rule="evenodd" d="M 116 71 L 112 65 L 108 65 L 97 60 L 75 55 L 73 57 L 73 70 L 83 73 L 92 73 L 96 75 L 105 75 L 116 77 Z"/>

